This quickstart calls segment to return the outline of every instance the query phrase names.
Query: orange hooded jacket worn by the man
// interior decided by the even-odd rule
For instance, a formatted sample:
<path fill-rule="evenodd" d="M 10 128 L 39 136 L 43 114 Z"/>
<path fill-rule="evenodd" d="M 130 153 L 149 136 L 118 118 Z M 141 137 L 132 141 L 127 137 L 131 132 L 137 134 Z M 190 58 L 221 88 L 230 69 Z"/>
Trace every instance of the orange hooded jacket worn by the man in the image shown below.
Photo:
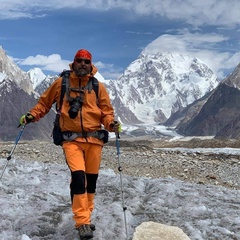
<path fill-rule="evenodd" d="M 89 78 L 96 72 L 97 69 L 94 65 L 92 65 L 91 74 L 84 77 L 78 77 L 74 72 L 71 72 L 69 77 L 69 86 L 71 88 L 86 86 Z M 59 102 L 61 95 L 61 82 L 62 77 L 56 79 L 53 84 L 41 95 L 38 103 L 30 110 L 30 113 L 34 117 L 34 121 L 38 121 L 40 118 L 44 117 L 45 114 L 49 112 L 52 105 L 55 102 Z M 70 96 L 76 97 L 79 96 L 79 93 L 70 92 Z M 110 123 L 114 121 L 114 111 L 103 83 L 99 82 L 98 86 L 98 104 L 96 94 L 93 90 L 90 93 L 87 90 L 84 91 L 82 116 L 80 116 L 80 111 L 78 111 L 78 116 L 76 118 L 71 119 L 69 117 L 68 111 L 70 109 L 70 105 L 66 98 L 65 94 L 60 116 L 60 128 L 62 131 L 94 132 L 101 129 L 101 124 L 104 125 L 105 129 L 108 131 L 113 131 Z M 97 142 L 99 143 L 99 140 Z"/>

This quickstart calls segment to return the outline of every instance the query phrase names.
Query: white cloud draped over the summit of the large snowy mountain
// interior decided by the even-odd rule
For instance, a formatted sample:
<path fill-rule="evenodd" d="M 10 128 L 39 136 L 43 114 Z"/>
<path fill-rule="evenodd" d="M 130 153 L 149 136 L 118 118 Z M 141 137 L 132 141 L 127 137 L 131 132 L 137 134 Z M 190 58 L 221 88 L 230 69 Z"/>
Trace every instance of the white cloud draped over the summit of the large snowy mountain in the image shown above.
<path fill-rule="evenodd" d="M 222 78 L 225 75 L 224 71 L 235 68 L 240 59 L 240 52 L 232 54 L 222 51 L 221 44 L 225 41 L 228 41 L 228 37 L 219 34 L 164 34 L 150 43 L 142 53 L 178 52 L 197 57 L 209 66 L 219 78 Z"/>

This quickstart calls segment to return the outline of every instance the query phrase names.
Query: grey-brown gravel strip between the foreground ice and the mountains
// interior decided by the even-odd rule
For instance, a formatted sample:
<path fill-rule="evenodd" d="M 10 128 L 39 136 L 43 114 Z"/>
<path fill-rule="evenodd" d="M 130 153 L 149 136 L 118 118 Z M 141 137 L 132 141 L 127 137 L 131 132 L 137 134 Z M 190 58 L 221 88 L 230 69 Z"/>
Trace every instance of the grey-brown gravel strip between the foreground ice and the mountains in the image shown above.
<path fill-rule="evenodd" d="M 152 139 L 121 139 L 120 155 L 115 141 L 103 148 L 101 169 L 113 169 L 136 177 L 165 178 L 240 189 L 240 155 L 188 153 L 164 148 L 239 148 L 238 140 L 191 139 L 168 141 Z M 9 156 L 13 143 L 0 143 L 0 158 Z M 161 149 L 159 149 L 161 148 Z M 163 148 L 163 149 L 162 149 Z M 61 147 L 50 141 L 20 141 L 12 158 L 65 164 Z M 118 162 L 119 160 L 119 162 Z"/>

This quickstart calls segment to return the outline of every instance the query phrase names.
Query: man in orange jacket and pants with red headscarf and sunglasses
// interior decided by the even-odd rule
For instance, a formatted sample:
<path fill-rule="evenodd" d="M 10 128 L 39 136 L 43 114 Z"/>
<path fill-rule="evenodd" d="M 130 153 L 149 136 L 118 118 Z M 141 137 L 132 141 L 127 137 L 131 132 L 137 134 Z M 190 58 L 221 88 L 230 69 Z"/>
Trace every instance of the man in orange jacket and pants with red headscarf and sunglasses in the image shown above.
<path fill-rule="evenodd" d="M 63 132 L 62 148 L 71 172 L 71 200 L 75 228 L 80 239 L 93 238 L 91 213 L 103 147 L 101 126 L 118 134 L 120 124 L 114 121 L 114 111 L 106 88 L 98 82 L 98 97 L 87 89 L 97 72 L 92 55 L 79 50 L 72 64 L 69 86 L 63 98 L 59 126 Z M 20 124 L 36 122 L 48 113 L 53 103 L 60 102 L 62 77 L 41 95 L 38 103 L 20 119 Z M 101 134 L 98 134 L 101 133 Z"/>

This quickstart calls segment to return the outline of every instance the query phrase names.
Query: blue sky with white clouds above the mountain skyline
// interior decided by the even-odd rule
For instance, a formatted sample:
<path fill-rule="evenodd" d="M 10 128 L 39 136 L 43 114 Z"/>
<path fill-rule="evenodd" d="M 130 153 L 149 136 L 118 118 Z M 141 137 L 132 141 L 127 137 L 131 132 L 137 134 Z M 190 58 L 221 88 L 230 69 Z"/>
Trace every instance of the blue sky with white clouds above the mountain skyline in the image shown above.
<path fill-rule="evenodd" d="M 223 78 L 240 62 L 238 0 L 1 0 L 0 45 L 24 71 L 68 68 L 86 48 L 105 79 L 141 51 L 200 58 Z"/>

